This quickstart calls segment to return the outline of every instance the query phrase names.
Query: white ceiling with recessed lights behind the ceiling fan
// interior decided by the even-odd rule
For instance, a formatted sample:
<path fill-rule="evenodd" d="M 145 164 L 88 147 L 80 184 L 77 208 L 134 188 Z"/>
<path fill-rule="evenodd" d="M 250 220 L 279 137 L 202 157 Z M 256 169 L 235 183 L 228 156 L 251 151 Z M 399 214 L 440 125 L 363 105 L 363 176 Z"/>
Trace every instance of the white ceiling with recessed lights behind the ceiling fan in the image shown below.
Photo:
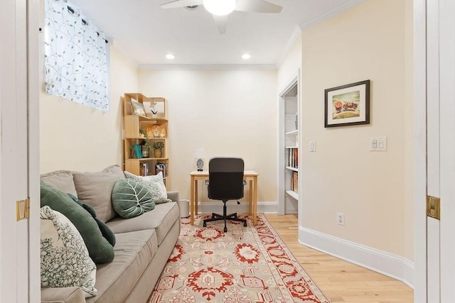
<path fill-rule="evenodd" d="M 281 13 L 228 16 L 227 31 L 218 33 L 212 15 L 196 10 L 161 9 L 168 0 L 69 0 L 80 7 L 114 46 L 139 67 L 161 65 L 277 65 L 300 29 L 363 0 L 267 0 Z M 170 1 L 170 0 L 169 0 Z M 172 53 L 175 59 L 165 55 Z M 242 60 L 244 53 L 250 60 Z"/>

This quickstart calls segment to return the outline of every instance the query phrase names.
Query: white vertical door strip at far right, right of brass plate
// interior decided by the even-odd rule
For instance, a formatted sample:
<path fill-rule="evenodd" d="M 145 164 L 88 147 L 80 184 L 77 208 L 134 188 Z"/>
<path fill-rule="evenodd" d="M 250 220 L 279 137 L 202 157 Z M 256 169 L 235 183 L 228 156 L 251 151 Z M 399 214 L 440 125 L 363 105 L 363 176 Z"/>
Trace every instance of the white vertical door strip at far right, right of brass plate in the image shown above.
<path fill-rule="evenodd" d="M 439 0 L 440 94 L 440 290 L 441 302 L 452 302 L 455 260 L 455 3 Z M 444 266 L 442 266 L 444 264 Z"/>

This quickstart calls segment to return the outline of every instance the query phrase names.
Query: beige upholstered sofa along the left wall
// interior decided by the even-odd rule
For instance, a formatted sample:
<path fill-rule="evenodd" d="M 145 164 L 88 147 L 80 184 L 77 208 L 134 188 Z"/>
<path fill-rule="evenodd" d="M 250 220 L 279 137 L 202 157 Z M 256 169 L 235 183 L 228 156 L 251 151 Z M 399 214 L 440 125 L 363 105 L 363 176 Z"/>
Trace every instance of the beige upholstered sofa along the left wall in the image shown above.
<path fill-rule="evenodd" d="M 109 194 L 121 177 L 124 175 L 117 165 L 102 172 L 60 170 L 41 176 L 46 184 L 75 194 L 92 206 L 116 238 L 114 260 L 97 265 L 95 297 L 85 299 L 79 287 L 41 288 L 41 302 L 145 303 L 148 299 L 180 233 L 178 192 L 168 192 L 173 202 L 122 219 L 114 213 Z"/>

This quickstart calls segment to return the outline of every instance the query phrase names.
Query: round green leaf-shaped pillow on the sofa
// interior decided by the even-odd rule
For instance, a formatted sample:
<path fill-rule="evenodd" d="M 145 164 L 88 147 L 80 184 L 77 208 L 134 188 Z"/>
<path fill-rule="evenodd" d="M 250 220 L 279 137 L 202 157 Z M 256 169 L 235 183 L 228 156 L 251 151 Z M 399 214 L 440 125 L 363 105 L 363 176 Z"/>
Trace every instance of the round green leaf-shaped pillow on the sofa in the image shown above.
<path fill-rule="evenodd" d="M 155 208 L 155 202 L 144 185 L 133 180 L 120 179 L 112 189 L 112 206 L 119 216 L 129 219 L 151 211 Z"/>

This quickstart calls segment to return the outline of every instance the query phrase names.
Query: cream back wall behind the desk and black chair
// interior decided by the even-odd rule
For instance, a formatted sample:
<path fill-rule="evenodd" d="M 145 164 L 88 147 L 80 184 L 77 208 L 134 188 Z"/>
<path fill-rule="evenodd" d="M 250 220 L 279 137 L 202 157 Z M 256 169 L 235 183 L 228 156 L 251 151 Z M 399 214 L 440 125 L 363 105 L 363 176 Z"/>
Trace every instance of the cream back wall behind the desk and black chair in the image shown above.
<path fill-rule="evenodd" d="M 205 148 L 205 169 L 210 157 L 241 156 L 260 174 L 258 201 L 276 202 L 276 70 L 141 70 L 139 90 L 168 99 L 170 187 L 181 199 L 190 197 L 194 152 Z"/>

